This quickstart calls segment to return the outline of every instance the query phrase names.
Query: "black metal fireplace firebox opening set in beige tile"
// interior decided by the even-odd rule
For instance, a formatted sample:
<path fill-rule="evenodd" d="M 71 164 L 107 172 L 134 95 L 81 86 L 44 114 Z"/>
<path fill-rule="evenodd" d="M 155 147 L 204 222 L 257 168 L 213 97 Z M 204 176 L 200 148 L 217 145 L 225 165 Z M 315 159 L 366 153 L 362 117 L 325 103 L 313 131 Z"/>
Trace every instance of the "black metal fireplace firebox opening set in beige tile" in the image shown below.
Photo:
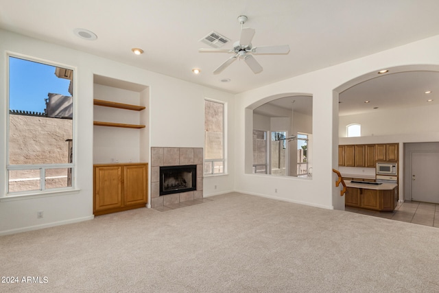
<path fill-rule="evenodd" d="M 160 167 L 160 196 L 197 189 L 197 165 Z"/>

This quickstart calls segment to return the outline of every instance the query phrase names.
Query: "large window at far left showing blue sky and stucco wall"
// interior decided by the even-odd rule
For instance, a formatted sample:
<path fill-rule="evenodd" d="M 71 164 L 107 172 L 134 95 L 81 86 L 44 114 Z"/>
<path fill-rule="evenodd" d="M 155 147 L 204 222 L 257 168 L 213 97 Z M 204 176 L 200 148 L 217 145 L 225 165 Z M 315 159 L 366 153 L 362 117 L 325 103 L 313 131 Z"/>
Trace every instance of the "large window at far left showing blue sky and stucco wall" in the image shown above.
<path fill-rule="evenodd" d="M 8 61 L 8 194 L 72 187 L 73 69 Z"/>

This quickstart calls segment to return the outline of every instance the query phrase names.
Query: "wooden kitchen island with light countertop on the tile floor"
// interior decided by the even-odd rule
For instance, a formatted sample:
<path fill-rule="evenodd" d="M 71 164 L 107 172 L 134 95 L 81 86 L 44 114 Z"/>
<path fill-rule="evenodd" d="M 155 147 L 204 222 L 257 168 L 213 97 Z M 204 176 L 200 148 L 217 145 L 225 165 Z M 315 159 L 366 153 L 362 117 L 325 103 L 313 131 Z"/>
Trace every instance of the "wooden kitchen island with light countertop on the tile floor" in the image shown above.
<path fill-rule="evenodd" d="M 375 211 L 393 211 L 398 202 L 396 183 L 375 183 L 346 180 L 346 198 L 348 207 L 372 209 Z"/>

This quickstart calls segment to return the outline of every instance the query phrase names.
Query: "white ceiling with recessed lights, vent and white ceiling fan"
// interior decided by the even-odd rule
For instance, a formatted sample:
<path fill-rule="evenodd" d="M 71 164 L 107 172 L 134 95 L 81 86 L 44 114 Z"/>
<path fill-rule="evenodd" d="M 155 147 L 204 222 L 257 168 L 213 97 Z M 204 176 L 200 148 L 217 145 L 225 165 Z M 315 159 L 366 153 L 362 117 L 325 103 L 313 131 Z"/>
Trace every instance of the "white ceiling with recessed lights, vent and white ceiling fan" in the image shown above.
<path fill-rule="evenodd" d="M 240 93 L 437 35 L 438 12 L 438 0 L 0 0 L 0 27 L 134 67 Z M 291 51 L 287 55 L 255 55 L 263 67 L 258 74 L 252 73 L 245 62 L 236 61 L 219 75 L 213 75 L 212 71 L 230 55 L 199 53 L 199 48 L 209 47 L 200 39 L 214 30 L 233 43 L 239 38 L 237 17 L 242 14 L 248 16 L 244 27 L 256 30 L 254 46 L 287 44 Z M 78 27 L 97 34 L 97 40 L 75 36 L 73 30 Z M 134 56 L 133 47 L 145 53 Z M 224 48 L 229 47 L 232 45 Z M 202 72 L 194 75 L 194 67 Z M 422 76 L 410 80 L 437 80 L 436 74 L 434 78 Z M 226 78 L 230 82 L 220 81 Z M 408 88 L 396 83 L 396 75 L 394 78 L 371 80 L 372 88 L 365 82 L 357 91 L 370 94 L 371 89 L 378 91 L 386 87 L 386 82 L 393 82 L 387 88 L 399 91 L 397 95 L 401 96 L 403 89 Z M 407 78 L 401 81 L 409 86 Z M 412 83 L 410 89 L 424 89 L 427 85 Z M 384 92 L 374 95 L 381 99 L 395 96 L 385 96 Z M 357 92 L 355 96 L 364 98 L 359 98 Z M 372 100 L 377 102 L 367 99 L 371 100 L 368 106 L 372 106 Z M 346 111 L 349 108 L 347 99 L 340 104 L 340 115 L 344 107 Z M 350 110 L 359 111 L 352 107 Z"/>

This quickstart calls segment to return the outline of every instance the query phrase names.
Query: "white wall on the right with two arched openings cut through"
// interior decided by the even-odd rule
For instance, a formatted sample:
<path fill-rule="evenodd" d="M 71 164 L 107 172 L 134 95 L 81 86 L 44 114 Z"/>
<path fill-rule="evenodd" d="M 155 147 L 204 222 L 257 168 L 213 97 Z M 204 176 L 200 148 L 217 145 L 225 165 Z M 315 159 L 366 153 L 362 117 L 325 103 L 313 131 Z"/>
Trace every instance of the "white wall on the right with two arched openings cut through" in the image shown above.
<path fill-rule="evenodd" d="M 235 135 L 239 133 L 240 136 L 235 139 L 241 143 L 237 143 L 236 151 L 236 189 L 327 209 L 344 209 L 344 197 L 340 197 L 340 188 L 335 187 L 335 174 L 331 172 L 332 168 L 337 168 L 338 93 L 353 84 L 374 78 L 383 68 L 433 65 L 438 70 L 438 49 L 439 36 L 434 36 L 237 95 Z M 249 174 L 251 160 L 246 154 L 251 142 L 248 130 L 252 127 L 254 105 L 294 93 L 313 96 L 312 179 Z M 241 133 L 246 133 L 244 138 Z"/>

